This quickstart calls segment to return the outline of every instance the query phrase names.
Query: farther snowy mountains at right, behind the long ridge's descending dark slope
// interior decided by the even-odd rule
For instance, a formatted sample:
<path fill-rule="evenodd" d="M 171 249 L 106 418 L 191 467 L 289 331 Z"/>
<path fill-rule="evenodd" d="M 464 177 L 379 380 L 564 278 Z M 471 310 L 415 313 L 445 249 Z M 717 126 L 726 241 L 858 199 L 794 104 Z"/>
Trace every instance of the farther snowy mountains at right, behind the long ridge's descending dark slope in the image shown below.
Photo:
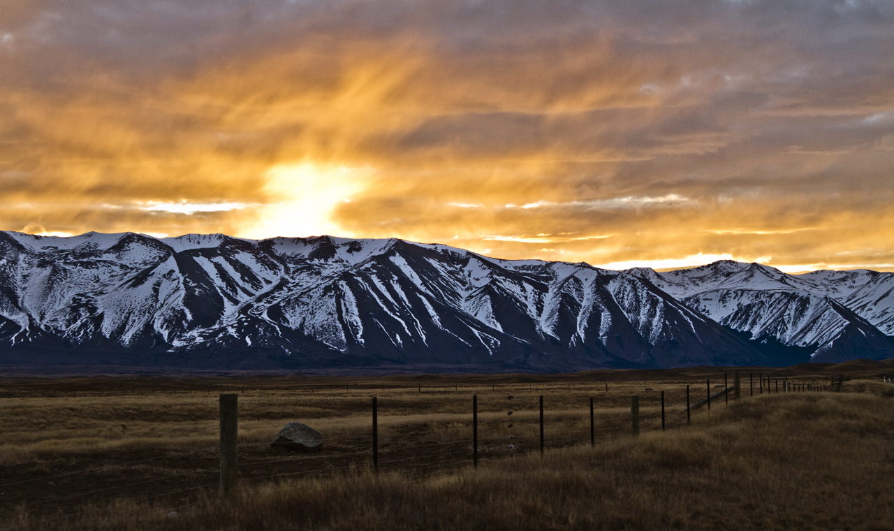
<path fill-rule="evenodd" d="M 891 357 L 891 273 L 784 274 L 729 260 L 665 273 L 644 268 L 628 273 L 762 345 L 784 347 L 795 358 L 799 349 L 809 351 L 813 361 Z"/>

